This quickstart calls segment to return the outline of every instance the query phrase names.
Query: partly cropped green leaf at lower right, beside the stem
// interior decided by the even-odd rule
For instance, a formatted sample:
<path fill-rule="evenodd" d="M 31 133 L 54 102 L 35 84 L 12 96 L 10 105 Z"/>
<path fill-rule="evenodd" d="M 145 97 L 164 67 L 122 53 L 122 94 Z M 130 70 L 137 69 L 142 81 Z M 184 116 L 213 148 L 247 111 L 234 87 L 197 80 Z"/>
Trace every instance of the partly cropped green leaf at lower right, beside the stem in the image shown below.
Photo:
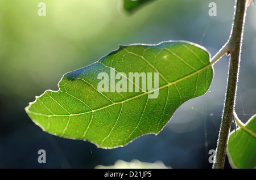
<path fill-rule="evenodd" d="M 256 168 L 256 114 L 229 136 L 227 153 L 232 168 Z"/>

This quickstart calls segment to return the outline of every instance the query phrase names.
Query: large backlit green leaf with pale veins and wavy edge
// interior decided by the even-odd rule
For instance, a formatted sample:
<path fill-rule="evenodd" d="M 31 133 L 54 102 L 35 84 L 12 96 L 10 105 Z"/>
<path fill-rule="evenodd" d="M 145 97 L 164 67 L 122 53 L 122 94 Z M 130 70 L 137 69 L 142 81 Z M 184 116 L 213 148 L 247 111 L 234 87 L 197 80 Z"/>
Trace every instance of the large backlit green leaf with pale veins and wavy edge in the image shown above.
<path fill-rule="evenodd" d="M 59 91 L 36 97 L 26 112 L 54 135 L 88 140 L 101 148 L 126 145 L 138 136 L 158 134 L 183 102 L 207 92 L 213 78 L 209 58 L 207 50 L 185 41 L 120 46 L 92 65 L 65 74 Z M 110 76 L 105 84 L 109 92 L 98 89 L 101 72 Z M 147 77 L 137 82 L 129 72 Z M 113 74 L 122 75 L 114 84 Z M 121 80 L 127 84 L 121 86 Z M 143 82 L 152 82 L 152 87 Z M 126 90 L 131 85 L 132 92 L 115 91 L 125 85 Z"/>

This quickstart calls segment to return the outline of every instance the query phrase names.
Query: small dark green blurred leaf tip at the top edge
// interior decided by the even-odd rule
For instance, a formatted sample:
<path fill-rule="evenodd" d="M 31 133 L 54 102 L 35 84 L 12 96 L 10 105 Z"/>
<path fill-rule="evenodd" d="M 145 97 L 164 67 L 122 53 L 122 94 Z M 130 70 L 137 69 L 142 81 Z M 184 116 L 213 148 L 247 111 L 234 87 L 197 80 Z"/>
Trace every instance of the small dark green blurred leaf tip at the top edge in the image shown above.
<path fill-rule="evenodd" d="M 123 9 L 129 13 L 133 13 L 142 6 L 146 5 L 149 2 L 157 0 L 123 0 Z"/>

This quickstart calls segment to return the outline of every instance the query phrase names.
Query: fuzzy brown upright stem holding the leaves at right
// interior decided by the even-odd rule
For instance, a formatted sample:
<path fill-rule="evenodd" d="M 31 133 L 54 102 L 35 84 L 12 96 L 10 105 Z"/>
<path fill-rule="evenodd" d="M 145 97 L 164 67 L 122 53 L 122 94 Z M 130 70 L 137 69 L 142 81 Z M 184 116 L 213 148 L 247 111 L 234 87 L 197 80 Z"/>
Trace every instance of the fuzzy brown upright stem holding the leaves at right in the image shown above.
<path fill-rule="evenodd" d="M 224 168 L 226 145 L 228 143 L 230 126 L 234 118 L 234 104 L 236 100 L 237 80 L 240 65 L 240 53 L 242 46 L 245 14 L 246 0 L 237 0 L 232 33 L 228 41 L 228 53 L 230 54 L 228 85 L 226 89 L 226 98 L 222 114 L 221 128 L 218 136 L 216 157 L 213 164 L 214 169 Z"/>

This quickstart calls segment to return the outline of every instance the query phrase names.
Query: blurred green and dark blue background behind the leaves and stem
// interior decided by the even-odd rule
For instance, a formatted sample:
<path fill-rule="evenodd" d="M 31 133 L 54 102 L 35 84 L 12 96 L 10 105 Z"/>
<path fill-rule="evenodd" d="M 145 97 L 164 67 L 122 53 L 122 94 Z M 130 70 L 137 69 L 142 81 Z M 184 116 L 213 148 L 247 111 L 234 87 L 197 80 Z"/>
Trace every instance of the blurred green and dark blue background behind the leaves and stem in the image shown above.
<path fill-rule="evenodd" d="M 39 16 L 39 2 L 46 16 Z M 210 2 L 217 16 L 209 16 Z M 204 96 L 185 102 L 159 135 L 144 135 L 123 148 L 99 149 L 81 140 L 49 135 L 24 111 L 46 89 L 57 90 L 66 72 L 97 61 L 119 44 L 187 40 L 212 54 L 232 27 L 234 0 L 162 0 L 134 14 L 118 0 L 0 1 L 0 168 L 94 168 L 115 161 L 162 161 L 172 168 L 212 168 L 224 105 L 228 57 L 214 65 Z M 236 112 L 256 114 L 256 7 L 247 11 Z M 234 125 L 232 125 L 232 129 Z M 46 151 L 46 164 L 38 151 Z M 230 168 L 226 160 L 225 168 Z"/>

